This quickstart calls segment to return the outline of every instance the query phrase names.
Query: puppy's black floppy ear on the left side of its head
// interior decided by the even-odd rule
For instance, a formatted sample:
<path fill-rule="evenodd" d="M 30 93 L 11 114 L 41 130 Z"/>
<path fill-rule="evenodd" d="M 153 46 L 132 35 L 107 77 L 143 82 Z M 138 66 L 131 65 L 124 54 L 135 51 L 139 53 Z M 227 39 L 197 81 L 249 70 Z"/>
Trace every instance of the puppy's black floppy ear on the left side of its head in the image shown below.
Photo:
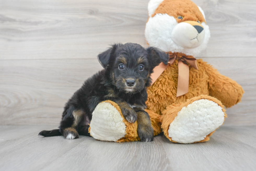
<path fill-rule="evenodd" d="M 109 48 L 105 52 L 102 52 L 101 54 L 98 55 L 98 61 L 100 62 L 103 68 L 106 68 L 108 66 L 109 61 L 111 60 L 112 57 L 114 57 L 115 50 L 121 45 L 122 45 L 121 43 L 113 44 L 112 48 Z"/>

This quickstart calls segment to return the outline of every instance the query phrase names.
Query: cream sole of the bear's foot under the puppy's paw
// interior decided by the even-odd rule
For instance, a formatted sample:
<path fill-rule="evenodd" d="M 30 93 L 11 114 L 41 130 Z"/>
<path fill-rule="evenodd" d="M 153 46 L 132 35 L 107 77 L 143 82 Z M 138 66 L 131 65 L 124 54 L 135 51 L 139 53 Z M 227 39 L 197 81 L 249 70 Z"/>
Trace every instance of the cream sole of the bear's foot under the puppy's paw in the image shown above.
<path fill-rule="evenodd" d="M 125 136 L 126 125 L 118 110 L 108 102 L 96 106 L 92 113 L 90 134 L 102 141 L 117 141 Z"/>

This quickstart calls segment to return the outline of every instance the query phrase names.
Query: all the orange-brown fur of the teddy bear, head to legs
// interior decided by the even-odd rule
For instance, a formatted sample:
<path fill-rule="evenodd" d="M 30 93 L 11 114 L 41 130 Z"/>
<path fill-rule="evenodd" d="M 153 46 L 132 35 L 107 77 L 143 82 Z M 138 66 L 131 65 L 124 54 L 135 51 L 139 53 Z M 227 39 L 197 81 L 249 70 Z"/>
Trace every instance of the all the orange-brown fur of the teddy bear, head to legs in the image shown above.
<path fill-rule="evenodd" d="M 176 18 L 177 22 L 187 20 L 205 22 L 197 5 L 190 0 L 164 0 L 152 16 L 158 13 L 166 13 L 173 16 Z M 178 19 L 178 16 L 183 16 L 183 19 Z M 181 53 L 176 53 L 175 55 L 186 56 Z M 188 93 L 185 95 L 176 97 L 178 60 L 175 60 L 173 64 L 168 66 L 154 84 L 148 88 L 148 99 L 146 102 L 148 109 L 146 111 L 150 116 L 151 124 L 154 128 L 154 135 L 158 135 L 163 131 L 165 136 L 172 141 L 171 137 L 168 136 L 170 123 L 175 119 L 178 111 L 180 111 L 182 107 L 187 106 L 196 100 L 207 99 L 213 101 L 222 107 L 224 113 L 224 106 L 229 108 L 241 101 L 244 91 L 236 81 L 220 74 L 202 59 L 199 59 L 196 62 L 198 70 L 189 66 L 189 89 Z M 121 114 L 121 110 L 117 104 L 111 101 L 109 103 L 117 108 Z M 127 136 L 118 141 L 139 140 L 137 134 L 137 122 L 131 124 L 127 122 L 124 117 L 123 121 L 126 125 Z M 209 137 L 214 132 L 215 131 L 211 132 L 204 140 L 199 142 L 208 141 Z"/>

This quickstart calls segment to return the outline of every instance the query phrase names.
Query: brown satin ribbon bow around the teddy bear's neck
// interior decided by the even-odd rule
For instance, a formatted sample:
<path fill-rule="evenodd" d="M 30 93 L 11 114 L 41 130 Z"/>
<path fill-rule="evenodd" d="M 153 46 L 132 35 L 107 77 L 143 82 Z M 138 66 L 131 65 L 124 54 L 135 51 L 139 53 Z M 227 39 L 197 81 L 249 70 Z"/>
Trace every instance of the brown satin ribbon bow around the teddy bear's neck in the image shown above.
<path fill-rule="evenodd" d="M 178 60 L 178 85 L 177 85 L 176 97 L 179 97 L 188 93 L 188 84 L 189 84 L 188 64 L 191 67 L 198 69 L 196 64 L 196 58 L 194 58 L 193 56 L 187 56 L 181 53 L 171 53 L 171 52 L 169 52 L 169 56 L 170 56 L 170 59 L 167 65 L 161 62 L 159 66 L 156 66 L 153 69 L 154 72 L 151 74 L 152 85 L 158 79 L 158 77 L 164 72 L 164 70 L 177 59 Z"/>

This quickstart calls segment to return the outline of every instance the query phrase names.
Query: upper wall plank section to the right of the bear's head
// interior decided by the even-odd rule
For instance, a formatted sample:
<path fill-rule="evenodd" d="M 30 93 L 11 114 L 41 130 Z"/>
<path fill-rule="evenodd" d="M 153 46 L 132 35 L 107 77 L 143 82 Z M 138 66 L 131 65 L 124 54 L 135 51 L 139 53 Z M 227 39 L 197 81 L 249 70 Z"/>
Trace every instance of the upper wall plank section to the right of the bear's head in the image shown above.
<path fill-rule="evenodd" d="M 211 38 L 200 57 L 255 56 L 256 1 L 193 0 L 206 15 Z"/>

